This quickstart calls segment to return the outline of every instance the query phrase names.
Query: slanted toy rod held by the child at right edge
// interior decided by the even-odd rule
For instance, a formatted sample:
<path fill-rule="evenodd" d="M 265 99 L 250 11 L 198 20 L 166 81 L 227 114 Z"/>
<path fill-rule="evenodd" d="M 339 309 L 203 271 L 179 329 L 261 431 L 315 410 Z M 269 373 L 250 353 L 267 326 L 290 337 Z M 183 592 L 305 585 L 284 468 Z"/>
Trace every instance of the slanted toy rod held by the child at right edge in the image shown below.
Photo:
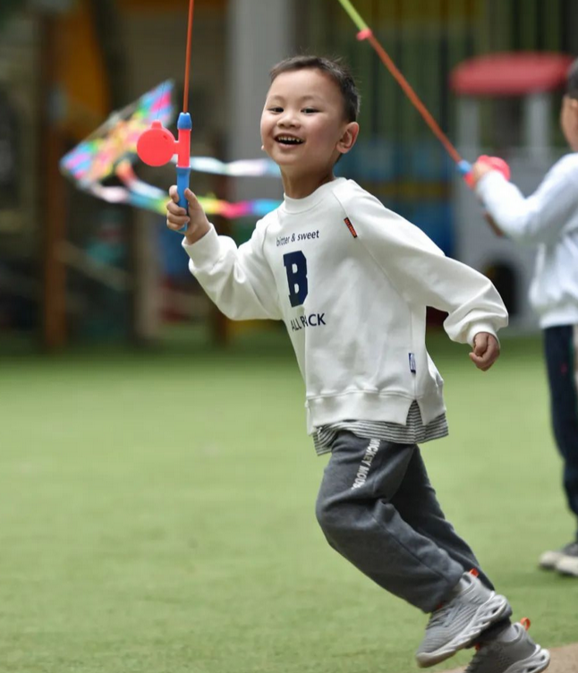
<path fill-rule="evenodd" d="M 404 78 L 404 75 L 397 69 L 395 63 L 387 54 L 387 51 L 379 44 L 378 39 L 373 34 L 373 31 L 370 29 L 367 23 L 361 19 L 360 14 L 357 12 L 355 7 L 353 7 L 353 4 L 350 2 L 350 0 L 339 0 L 339 2 L 343 6 L 345 12 L 349 14 L 350 19 L 359 30 L 357 33 L 357 39 L 367 39 L 371 47 L 375 49 L 379 58 L 381 59 L 381 62 L 387 67 L 387 70 L 391 72 L 399 86 L 404 89 L 404 93 L 407 98 L 410 99 L 412 105 L 415 106 L 417 111 L 423 117 L 425 123 L 428 124 L 431 131 L 436 135 L 438 140 L 444 146 L 446 152 L 455 161 L 456 168 L 463 175 L 465 182 L 468 184 L 468 186 L 472 187 L 472 164 L 460 156 L 452 142 L 447 138 L 446 133 L 444 133 L 439 128 L 436 120 L 429 114 L 428 108 L 423 105 L 421 99 L 412 89 L 409 82 Z M 506 180 L 510 179 L 510 168 L 504 159 L 498 157 L 487 157 L 486 155 L 483 155 L 478 159 L 478 161 L 488 164 L 492 168 L 502 173 L 504 177 L 506 177 Z"/>

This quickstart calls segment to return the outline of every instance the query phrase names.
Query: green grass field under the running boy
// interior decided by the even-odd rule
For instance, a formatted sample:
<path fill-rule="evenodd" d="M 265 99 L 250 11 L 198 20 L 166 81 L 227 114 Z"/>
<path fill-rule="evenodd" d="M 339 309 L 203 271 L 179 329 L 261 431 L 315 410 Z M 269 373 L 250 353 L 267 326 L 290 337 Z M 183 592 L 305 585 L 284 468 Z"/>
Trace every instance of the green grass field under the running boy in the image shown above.
<path fill-rule="evenodd" d="M 424 446 L 446 515 L 514 618 L 576 639 L 578 585 L 536 558 L 572 519 L 540 344 L 495 370 L 435 336 L 451 436 Z M 327 458 L 285 338 L 228 352 L 21 354 L 0 363 L 0 669 L 406 673 L 426 617 L 319 531 Z M 471 656 L 461 653 L 447 669 Z"/>

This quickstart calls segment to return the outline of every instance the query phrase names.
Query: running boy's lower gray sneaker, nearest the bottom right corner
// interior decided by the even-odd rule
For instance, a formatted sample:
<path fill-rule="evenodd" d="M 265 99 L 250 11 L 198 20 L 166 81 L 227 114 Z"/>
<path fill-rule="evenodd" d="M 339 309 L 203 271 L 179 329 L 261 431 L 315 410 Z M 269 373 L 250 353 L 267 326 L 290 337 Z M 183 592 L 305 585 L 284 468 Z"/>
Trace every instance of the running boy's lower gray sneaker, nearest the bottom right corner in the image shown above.
<path fill-rule="evenodd" d="M 540 673 L 548 669 L 550 654 L 534 643 L 527 634 L 530 626 L 514 624 L 517 631 L 514 640 L 496 640 L 484 643 L 474 654 L 465 673 Z"/>

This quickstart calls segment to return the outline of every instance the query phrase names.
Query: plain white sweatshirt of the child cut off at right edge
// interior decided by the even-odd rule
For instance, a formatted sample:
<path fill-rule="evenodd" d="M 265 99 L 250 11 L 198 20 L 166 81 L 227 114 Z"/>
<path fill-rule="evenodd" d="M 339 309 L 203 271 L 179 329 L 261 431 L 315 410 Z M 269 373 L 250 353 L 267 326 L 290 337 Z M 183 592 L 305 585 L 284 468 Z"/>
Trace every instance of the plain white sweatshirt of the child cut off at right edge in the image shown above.
<path fill-rule="evenodd" d="M 540 327 L 578 325 L 578 152 L 552 166 L 527 199 L 497 171 L 476 192 L 506 235 L 538 248 L 530 302 Z"/>

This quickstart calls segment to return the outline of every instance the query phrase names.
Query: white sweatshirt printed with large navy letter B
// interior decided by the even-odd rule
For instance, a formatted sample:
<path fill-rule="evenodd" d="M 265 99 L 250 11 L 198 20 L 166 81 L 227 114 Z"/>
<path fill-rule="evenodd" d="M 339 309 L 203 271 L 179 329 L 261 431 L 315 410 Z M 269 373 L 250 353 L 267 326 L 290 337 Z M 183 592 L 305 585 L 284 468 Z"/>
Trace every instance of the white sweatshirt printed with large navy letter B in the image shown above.
<path fill-rule="evenodd" d="M 352 180 L 337 178 L 259 220 L 239 248 L 214 229 L 184 249 L 231 319 L 281 319 L 306 388 L 308 431 L 344 420 L 424 423 L 446 407 L 425 345 L 426 306 L 472 345 L 507 312 L 488 278 L 442 251 Z"/>

